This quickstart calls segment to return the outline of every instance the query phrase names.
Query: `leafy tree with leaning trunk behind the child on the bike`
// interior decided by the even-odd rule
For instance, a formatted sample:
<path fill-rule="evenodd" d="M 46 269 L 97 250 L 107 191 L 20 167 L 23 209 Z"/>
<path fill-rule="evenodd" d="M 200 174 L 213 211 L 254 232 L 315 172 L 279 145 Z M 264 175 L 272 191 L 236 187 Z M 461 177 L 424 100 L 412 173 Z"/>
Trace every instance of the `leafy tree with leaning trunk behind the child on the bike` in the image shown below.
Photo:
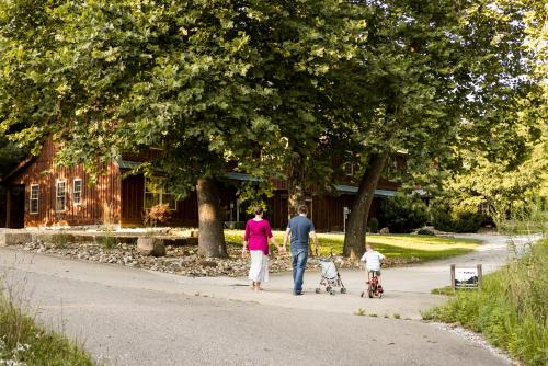
<path fill-rule="evenodd" d="M 523 8 L 502 1 L 366 4 L 364 61 L 354 66 L 363 77 L 344 85 L 349 101 L 358 93 L 366 101 L 362 108 L 350 104 L 356 113 L 349 124 L 356 131 L 352 150 L 364 167 L 346 226 L 344 254 L 351 256 L 364 250 L 374 190 L 397 151 L 408 152 L 410 175 L 431 179 L 435 174 L 421 171 L 458 170 L 461 148 L 488 159 L 510 150 L 518 161 L 536 129 L 512 124 L 521 111 L 516 101 L 534 88 L 525 78 Z"/>

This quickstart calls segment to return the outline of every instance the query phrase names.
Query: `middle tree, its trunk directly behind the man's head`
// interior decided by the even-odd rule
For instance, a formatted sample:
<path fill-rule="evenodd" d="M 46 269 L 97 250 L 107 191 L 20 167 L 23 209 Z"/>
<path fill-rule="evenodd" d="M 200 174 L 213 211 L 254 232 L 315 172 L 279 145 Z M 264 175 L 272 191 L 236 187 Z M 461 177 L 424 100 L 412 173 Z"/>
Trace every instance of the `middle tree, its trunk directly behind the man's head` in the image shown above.
<path fill-rule="evenodd" d="M 252 68 L 254 82 L 276 90 L 264 113 L 282 137 L 277 173 L 287 181 L 290 216 L 305 204 L 306 191 L 331 182 L 341 140 L 334 121 L 342 110 L 333 85 L 344 82 L 341 68 L 356 56 L 366 24 L 361 7 L 341 1 L 251 3 L 246 32 L 262 56 Z"/>

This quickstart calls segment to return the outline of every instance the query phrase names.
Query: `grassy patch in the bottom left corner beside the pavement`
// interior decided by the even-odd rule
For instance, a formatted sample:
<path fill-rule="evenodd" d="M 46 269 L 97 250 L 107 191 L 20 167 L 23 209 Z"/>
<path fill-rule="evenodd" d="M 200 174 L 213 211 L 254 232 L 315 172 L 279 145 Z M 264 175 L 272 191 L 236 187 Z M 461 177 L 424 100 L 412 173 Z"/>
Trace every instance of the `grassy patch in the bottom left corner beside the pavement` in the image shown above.
<path fill-rule="evenodd" d="M 37 325 L 0 291 L 0 365 L 95 365 L 61 334 Z"/>

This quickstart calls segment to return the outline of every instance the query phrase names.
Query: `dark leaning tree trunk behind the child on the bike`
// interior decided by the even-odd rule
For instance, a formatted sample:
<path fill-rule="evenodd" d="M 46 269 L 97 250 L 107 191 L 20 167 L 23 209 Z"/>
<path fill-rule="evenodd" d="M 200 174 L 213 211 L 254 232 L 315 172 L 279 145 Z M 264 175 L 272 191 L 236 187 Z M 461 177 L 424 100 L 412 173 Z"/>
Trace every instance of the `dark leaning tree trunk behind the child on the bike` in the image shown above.
<path fill-rule="evenodd" d="M 352 211 L 346 222 L 343 248 L 343 255 L 351 259 L 359 258 L 365 251 L 367 217 L 386 160 L 386 156 L 377 153 L 369 156 L 367 170 L 362 176 L 359 188 L 354 197 Z"/>

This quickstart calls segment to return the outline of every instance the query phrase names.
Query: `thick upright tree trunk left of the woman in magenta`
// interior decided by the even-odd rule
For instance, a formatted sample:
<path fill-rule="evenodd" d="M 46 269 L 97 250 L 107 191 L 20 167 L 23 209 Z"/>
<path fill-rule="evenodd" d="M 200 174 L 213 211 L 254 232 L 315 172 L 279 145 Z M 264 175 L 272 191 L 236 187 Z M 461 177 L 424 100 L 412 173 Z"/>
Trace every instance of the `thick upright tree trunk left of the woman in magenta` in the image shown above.
<path fill-rule="evenodd" d="M 198 180 L 198 255 L 205 258 L 226 258 L 225 228 L 220 193 L 214 179 Z"/>

